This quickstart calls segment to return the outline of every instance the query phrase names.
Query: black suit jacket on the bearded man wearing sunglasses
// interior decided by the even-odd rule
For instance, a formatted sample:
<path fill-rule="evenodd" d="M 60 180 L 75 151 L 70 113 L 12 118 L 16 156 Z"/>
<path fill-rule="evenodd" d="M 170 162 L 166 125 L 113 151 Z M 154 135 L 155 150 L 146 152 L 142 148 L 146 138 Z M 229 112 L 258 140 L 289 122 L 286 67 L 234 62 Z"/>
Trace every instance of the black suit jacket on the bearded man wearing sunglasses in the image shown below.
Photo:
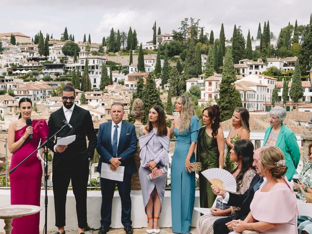
<path fill-rule="evenodd" d="M 49 137 L 55 134 L 63 126 L 62 121 L 66 120 L 63 107 L 52 113 L 49 121 Z M 69 124 L 73 126 L 72 132 L 69 134 L 76 135 L 76 140 L 68 145 L 63 153 L 54 153 L 53 168 L 74 168 L 82 162 L 87 162 L 88 158 L 93 158 L 94 150 L 97 144 L 97 135 L 93 127 L 90 112 L 75 105 Z M 65 127 L 59 132 L 57 137 L 64 137 L 70 131 L 69 127 Z M 86 136 L 89 144 L 87 148 Z M 54 152 L 56 141 L 48 143 L 49 149 Z"/>

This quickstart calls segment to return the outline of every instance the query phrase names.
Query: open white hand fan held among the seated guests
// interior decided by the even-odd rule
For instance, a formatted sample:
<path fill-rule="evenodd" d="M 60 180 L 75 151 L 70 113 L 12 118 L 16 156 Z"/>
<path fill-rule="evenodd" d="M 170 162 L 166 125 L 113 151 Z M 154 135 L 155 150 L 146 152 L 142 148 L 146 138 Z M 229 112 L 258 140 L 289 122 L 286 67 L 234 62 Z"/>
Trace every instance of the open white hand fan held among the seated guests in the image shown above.
<path fill-rule="evenodd" d="M 236 180 L 231 173 L 221 168 L 211 168 L 201 172 L 211 184 L 229 192 L 236 192 Z"/>

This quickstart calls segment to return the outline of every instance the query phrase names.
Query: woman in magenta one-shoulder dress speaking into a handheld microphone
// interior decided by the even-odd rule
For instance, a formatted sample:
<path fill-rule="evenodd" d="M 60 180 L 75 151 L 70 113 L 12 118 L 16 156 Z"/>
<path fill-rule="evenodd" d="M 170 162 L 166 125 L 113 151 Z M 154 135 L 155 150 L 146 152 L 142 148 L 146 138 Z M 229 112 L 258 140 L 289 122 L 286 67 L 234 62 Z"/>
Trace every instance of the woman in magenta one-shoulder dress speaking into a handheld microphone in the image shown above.
<path fill-rule="evenodd" d="M 34 152 L 39 141 L 46 140 L 49 131 L 44 119 L 33 120 L 31 126 L 27 127 L 26 119 L 31 118 L 33 110 L 29 98 L 21 98 L 19 107 L 20 117 L 11 122 L 8 131 L 8 148 L 13 154 L 10 170 Z M 31 134 L 32 139 L 29 137 Z M 44 149 L 39 151 L 42 155 Z M 11 204 L 40 206 L 41 177 L 41 161 L 39 154 L 35 153 L 10 174 Z M 12 225 L 12 234 L 39 234 L 39 213 L 15 218 Z"/>

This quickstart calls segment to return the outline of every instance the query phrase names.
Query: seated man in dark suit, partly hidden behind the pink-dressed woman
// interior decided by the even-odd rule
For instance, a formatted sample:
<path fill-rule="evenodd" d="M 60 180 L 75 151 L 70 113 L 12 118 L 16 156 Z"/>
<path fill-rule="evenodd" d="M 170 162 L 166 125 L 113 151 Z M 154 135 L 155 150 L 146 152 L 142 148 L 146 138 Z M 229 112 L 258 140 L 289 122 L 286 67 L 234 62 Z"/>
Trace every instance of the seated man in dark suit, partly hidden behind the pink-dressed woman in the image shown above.
<path fill-rule="evenodd" d="M 232 194 L 220 190 L 217 186 L 212 185 L 212 189 L 215 195 L 221 195 L 224 203 L 230 206 L 241 207 L 241 210 L 237 215 L 219 218 L 214 222 L 214 233 L 215 234 L 228 234 L 233 230 L 233 220 L 241 219 L 244 220 L 250 212 L 250 203 L 254 198 L 254 193 L 259 189 L 260 185 L 263 183 L 264 174 L 261 172 L 259 167 L 260 152 L 265 147 L 258 148 L 254 152 L 254 163 L 257 175 L 254 176 L 252 182 L 250 183 L 249 189 L 244 194 Z"/>

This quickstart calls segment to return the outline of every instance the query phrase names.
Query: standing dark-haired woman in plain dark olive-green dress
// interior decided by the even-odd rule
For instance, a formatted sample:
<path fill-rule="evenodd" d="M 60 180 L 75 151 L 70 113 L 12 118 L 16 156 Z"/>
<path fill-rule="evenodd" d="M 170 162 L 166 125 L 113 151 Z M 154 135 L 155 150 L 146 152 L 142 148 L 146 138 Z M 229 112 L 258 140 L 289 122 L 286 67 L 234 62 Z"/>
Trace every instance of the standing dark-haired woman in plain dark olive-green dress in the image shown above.
<path fill-rule="evenodd" d="M 203 110 L 203 124 L 199 130 L 197 140 L 197 156 L 202 164 L 202 170 L 223 168 L 224 164 L 224 134 L 220 127 L 220 109 L 213 105 Z M 211 208 L 215 195 L 211 183 L 199 173 L 200 207 Z"/>

